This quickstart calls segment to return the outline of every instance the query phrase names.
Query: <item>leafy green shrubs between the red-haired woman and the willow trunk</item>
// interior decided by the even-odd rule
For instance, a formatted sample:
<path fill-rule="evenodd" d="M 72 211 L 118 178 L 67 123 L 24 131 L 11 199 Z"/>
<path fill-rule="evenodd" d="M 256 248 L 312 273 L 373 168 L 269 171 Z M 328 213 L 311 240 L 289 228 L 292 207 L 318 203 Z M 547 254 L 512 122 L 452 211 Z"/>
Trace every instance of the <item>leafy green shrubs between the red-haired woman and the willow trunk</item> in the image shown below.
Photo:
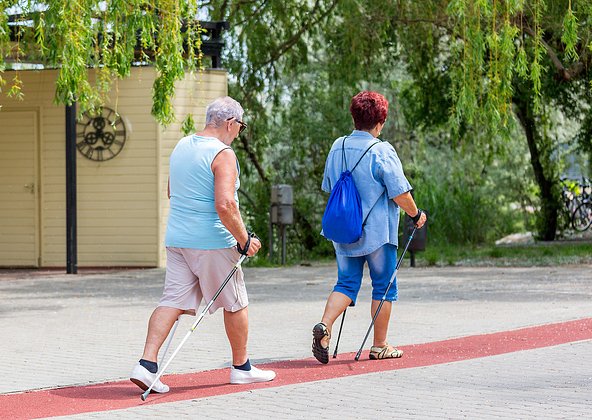
<path fill-rule="evenodd" d="M 403 161 L 415 200 L 428 211 L 431 243 L 491 243 L 532 227 L 531 217 L 523 217 L 533 185 L 522 142 L 510 140 L 487 161 L 474 159 L 472 145 L 454 150 L 431 145 L 429 137 L 407 159 L 403 150 Z"/>

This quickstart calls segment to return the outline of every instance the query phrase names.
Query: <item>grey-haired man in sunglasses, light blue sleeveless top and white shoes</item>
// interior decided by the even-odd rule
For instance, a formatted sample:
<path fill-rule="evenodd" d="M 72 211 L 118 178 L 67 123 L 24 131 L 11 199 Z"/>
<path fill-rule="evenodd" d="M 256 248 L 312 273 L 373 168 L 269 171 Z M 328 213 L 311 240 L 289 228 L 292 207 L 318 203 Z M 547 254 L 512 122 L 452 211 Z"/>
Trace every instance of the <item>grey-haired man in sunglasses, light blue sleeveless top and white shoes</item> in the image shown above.
<path fill-rule="evenodd" d="M 251 238 L 238 207 L 239 165 L 230 147 L 246 128 L 243 108 L 230 97 L 208 105 L 206 126 L 182 138 L 170 158 L 170 214 L 165 239 L 166 276 L 162 298 L 148 323 L 144 354 L 130 380 L 148 389 L 158 371 L 162 343 L 181 314 L 195 315 L 202 298 L 210 301 L 240 255 L 255 255 L 261 243 Z M 249 362 L 248 297 L 242 270 L 222 290 L 210 313 L 224 309 L 232 349 L 230 383 L 271 381 L 275 372 Z M 155 392 L 168 392 L 160 380 Z"/>

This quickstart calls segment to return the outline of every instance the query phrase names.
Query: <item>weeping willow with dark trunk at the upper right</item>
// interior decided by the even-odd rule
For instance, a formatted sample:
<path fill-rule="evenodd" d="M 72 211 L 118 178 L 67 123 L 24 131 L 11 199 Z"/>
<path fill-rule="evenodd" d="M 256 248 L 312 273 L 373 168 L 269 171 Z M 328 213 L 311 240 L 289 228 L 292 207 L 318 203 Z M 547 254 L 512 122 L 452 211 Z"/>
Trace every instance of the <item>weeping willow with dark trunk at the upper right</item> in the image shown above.
<path fill-rule="evenodd" d="M 561 113 L 579 124 L 577 139 L 582 149 L 591 149 L 592 3 L 404 4 L 393 26 L 403 57 L 416 80 L 424 86 L 429 80 L 431 95 L 448 103 L 449 115 L 442 121 L 452 127 L 454 138 L 495 151 L 510 135 L 513 121 L 519 122 L 539 189 L 538 233 L 553 240 L 561 202 L 551 115 Z M 433 102 L 421 94 L 416 98 Z M 426 109 L 442 115 L 429 104 Z"/>

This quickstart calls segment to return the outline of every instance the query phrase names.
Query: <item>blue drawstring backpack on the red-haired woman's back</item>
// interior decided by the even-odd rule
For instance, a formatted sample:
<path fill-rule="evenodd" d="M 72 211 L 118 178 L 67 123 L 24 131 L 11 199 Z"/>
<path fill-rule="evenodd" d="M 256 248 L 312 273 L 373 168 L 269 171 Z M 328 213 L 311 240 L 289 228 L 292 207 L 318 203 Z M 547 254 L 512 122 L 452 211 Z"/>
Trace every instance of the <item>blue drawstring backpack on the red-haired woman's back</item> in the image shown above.
<path fill-rule="evenodd" d="M 354 183 L 352 172 L 368 150 L 380 143 L 380 141 L 371 144 L 350 171 L 347 169 L 347 160 L 345 159 L 345 139 L 341 144 L 342 162 L 345 171 L 341 173 L 331 189 L 322 224 L 325 238 L 337 243 L 352 244 L 360 239 L 364 227 L 362 200 Z"/>

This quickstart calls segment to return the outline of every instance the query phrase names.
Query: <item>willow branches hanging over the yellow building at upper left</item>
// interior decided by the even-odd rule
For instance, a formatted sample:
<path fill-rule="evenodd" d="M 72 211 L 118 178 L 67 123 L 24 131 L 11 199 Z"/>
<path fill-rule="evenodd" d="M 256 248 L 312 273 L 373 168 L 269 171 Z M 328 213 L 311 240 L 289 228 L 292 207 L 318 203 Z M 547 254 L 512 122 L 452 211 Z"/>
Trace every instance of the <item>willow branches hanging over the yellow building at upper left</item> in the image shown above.
<path fill-rule="evenodd" d="M 55 102 L 76 101 L 83 112 L 101 106 L 132 65 L 153 63 L 152 113 L 169 124 L 175 82 L 201 66 L 197 14 L 191 0 L 2 0 L 0 94 L 22 98 L 19 69 L 36 63 L 58 69 Z"/>

